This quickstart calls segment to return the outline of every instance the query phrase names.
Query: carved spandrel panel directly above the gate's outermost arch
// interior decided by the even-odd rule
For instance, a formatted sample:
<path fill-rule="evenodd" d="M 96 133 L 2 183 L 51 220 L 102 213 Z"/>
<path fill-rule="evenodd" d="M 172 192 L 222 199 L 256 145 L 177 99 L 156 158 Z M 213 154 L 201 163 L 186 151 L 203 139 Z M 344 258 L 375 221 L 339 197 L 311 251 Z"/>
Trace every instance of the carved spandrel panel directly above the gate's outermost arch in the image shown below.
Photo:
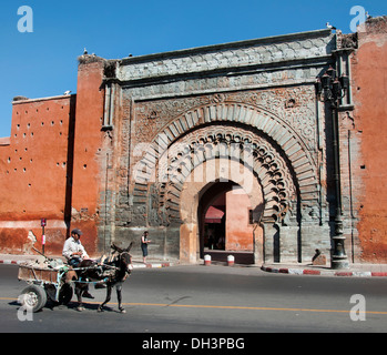
<path fill-rule="evenodd" d="M 281 123 L 288 125 L 308 150 L 317 150 L 316 103 L 313 85 L 139 102 L 135 110 L 136 136 L 141 142 L 150 142 L 166 123 L 184 112 L 213 104 L 248 104 L 267 110 L 275 114 Z M 234 120 L 238 119 L 234 118 Z"/>

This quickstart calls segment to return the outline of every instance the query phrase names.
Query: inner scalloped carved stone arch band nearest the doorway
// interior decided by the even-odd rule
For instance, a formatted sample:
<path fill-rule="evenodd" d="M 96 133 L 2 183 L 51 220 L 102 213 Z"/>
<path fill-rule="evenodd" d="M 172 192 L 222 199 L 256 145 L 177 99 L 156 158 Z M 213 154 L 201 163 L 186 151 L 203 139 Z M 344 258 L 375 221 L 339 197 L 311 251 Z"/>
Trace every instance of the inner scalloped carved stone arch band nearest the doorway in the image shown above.
<path fill-rule="evenodd" d="M 223 160 L 221 162 L 220 160 Z M 265 197 L 264 221 L 279 222 L 287 213 L 296 211 L 297 192 L 286 162 L 268 142 L 235 126 L 212 125 L 197 129 L 184 136 L 182 141 L 173 144 L 169 151 L 169 160 L 160 160 L 160 191 L 163 199 L 161 211 L 165 211 L 169 222 L 179 220 L 180 195 L 186 179 L 212 182 L 212 171 L 216 169 L 216 161 L 227 170 L 228 160 L 235 160 L 243 165 L 242 171 L 231 171 L 228 179 L 236 183 L 242 182 L 246 193 L 253 186 L 253 179 L 258 179 Z M 206 171 L 197 166 L 206 162 Z M 212 164 L 211 164 L 212 163 Z M 192 176 L 191 172 L 196 172 Z"/>

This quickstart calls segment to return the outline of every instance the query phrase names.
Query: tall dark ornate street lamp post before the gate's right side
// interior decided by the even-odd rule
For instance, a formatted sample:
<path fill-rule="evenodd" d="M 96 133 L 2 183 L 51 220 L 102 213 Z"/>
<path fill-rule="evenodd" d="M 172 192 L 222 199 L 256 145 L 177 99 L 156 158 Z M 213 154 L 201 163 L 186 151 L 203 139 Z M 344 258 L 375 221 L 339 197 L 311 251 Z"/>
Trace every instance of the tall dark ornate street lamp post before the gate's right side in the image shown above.
<path fill-rule="evenodd" d="M 322 78 L 317 78 L 316 92 L 322 102 L 327 102 L 332 109 L 332 133 L 334 151 L 334 180 L 336 192 L 336 213 L 335 213 L 335 235 L 333 236 L 332 268 L 349 267 L 348 258 L 345 252 L 345 236 L 343 234 L 343 211 L 342 211 L 342 189 L 340 189 L 340 162 L 339 162 L 339 125 L 338 108 L 340 100 L 347 94 L 349 88 L 349 78 L 340 75 L 337 78 L 336 70 L 332 67 L 326 70 Z"/>

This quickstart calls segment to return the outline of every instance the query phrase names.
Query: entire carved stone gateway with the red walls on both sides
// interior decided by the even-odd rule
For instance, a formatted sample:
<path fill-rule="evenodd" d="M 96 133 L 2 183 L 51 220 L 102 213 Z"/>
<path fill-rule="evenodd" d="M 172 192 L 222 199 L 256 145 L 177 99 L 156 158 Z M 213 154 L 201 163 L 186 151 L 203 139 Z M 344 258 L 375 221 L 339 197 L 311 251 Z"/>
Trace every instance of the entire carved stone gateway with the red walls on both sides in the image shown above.
<path fill-rule="evenodd" d="M 39 235 L 33 221 L 47 217 L 53 253 L 80 227 L 94 254 L 134 242 L 140 255 L 146 230 L 150 257 L 187 263 L 207 253 L 299 263 L 316 248 L 370 261 L 359 232 L 371 215 L 360 187 L 371 181 L 361 175 L 369 145 L 356 83 L 376 50 L 369 43 L 386 52 L 378 19 L 361 34 L 324 29 L 121 60 L 81 55 L 77 94 L 13 102 L 11 136 L 0 139 L 1 247 L 27 252 L 28 235 Z M 344 93 L 334 104 L 318 87 L 329 70 Z M 52 142 L 35 145 L 43 134 Z M 41 152 L 54 193 L 34 206 Z M 385 237 L 377 243 L 387 262 Z"/>

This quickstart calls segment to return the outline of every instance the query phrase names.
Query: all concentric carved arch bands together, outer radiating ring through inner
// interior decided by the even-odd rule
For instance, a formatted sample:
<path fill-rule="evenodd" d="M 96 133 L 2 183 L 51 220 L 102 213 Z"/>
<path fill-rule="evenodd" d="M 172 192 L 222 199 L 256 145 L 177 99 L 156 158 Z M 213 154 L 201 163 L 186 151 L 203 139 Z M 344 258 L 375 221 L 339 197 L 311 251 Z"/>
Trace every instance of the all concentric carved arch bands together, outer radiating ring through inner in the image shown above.
<path fill-rule="evenodd" d="M 259 180 L 266 221 L 295 214 L 297 192 L 302 202 L 317 205 L 316 169 L 298 136 L 263 109 L 231 103 L 191 110 L 165 126 L 136 165 L 133 195 L 154 182 L 159 201 L 152 205 L 157 205 L 159 220 L 165 225 L 179 222 L 185 179 L 193 169 L 216 158 L 238 160 Z M 134 217 L 135 210 L 134 205 Z M 156 212 L 147 211 L 152 213 Z"/>

